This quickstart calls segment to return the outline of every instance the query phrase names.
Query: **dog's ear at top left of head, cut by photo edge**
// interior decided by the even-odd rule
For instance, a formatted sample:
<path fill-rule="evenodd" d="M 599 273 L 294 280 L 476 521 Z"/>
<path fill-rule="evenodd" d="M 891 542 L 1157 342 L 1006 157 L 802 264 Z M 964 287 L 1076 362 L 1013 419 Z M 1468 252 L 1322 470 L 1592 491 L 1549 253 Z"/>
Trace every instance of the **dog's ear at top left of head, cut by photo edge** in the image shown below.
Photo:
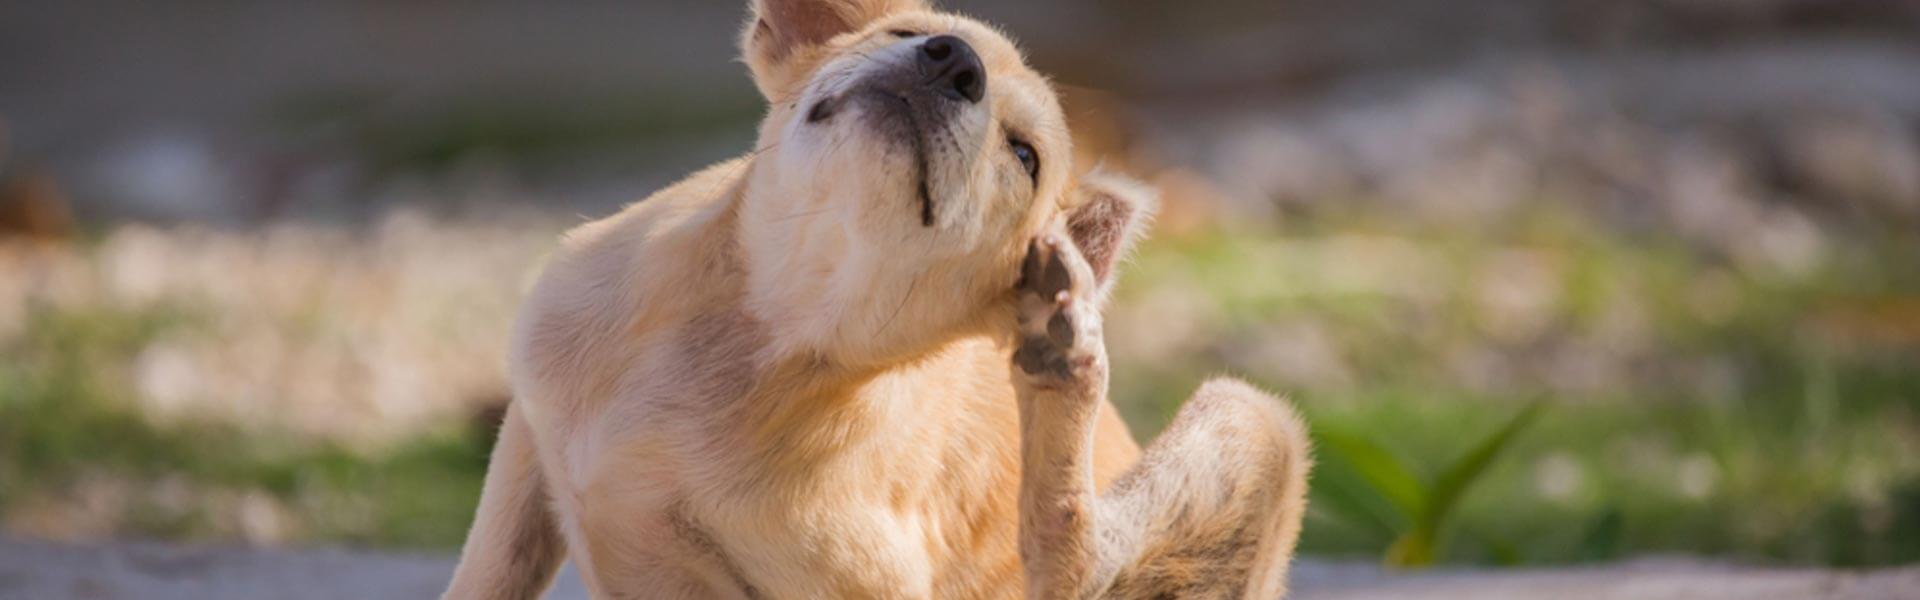
<path fill-rule="evenodd" d="M 820 65 L 820 46 L 841 33 L 860 31 L 874 19 L 902 10 L 924 10 L 922 0 L 749 0 L 747 29 L 739 48 L 760 94 L 778 102 Z"/>

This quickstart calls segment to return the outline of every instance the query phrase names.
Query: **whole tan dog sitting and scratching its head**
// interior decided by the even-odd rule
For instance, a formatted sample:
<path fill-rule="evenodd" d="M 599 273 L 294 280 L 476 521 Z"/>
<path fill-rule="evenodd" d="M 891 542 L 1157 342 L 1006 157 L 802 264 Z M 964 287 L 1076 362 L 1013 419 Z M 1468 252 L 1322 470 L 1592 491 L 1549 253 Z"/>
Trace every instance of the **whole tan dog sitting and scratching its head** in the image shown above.
<path fill-rule="evenodd" d="M 756 152 L 566 235 L 447 598 L 1277 598 L 1308 454 L 1213 381 L 1142 456 L 1098 310 L 1152 198 L 996 31 L 758 0 Z M 1018 367 L 1016 367 L 1018 365 Z"/>

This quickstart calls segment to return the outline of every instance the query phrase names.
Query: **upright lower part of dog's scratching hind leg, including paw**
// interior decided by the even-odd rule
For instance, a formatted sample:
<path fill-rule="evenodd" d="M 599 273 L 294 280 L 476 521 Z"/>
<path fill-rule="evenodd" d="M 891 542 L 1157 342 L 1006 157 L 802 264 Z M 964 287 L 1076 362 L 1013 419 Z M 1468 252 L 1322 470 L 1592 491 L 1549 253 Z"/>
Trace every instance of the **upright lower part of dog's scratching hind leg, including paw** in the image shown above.
<path fill-rule="evenodd" d="M 1035 240 L 1021 271 L 1014 379 L 1027 598 L 1098 594 L 1131 546 L 1102 531 L 1092 485 L 1094 415 L 1108 383 L 1092 281 L 1079 250 L 1060 235 Z"/>

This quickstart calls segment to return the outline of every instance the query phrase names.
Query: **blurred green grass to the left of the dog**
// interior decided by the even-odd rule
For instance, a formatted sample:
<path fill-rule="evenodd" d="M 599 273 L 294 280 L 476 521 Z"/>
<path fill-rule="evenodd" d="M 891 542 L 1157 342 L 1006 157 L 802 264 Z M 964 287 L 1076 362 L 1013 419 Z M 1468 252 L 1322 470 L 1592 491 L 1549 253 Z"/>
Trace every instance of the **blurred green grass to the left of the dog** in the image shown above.
<path fill-rule="evenodd" d="M 144 419 L 129 406 L 127 365 L 157 335 L 196 321 L 173 306 L 29 310 L 21 344 L 0 348 L 0 515 L 10 525 L 44 529 L 21 523 L 35 519 L 35 504 L 83 502 L 111 513 L 54 510 L 50 519 L 154 538 L 227 538 L 250 525 L 271 529 L 246 531 L 259 540 L 438 548 L 465 537 L 490 444 L 470 429 L 484 427 L 449 425 L 369 454 L 225 423 Z M 115 485 L 88 485 L 98 481 Z M 232 502 L 246 494 L 284 513 L 232 523 L 246 517 Z"/>

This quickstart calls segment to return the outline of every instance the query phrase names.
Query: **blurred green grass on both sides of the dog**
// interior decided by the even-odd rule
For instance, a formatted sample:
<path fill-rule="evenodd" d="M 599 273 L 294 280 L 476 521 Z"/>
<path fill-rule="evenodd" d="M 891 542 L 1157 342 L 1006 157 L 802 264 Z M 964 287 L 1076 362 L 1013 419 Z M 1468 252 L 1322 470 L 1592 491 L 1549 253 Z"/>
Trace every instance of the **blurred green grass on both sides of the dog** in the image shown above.
<path fill-rule="evenodd" d="M 1425 483 L 1542 402 L 1434 537 L 1446 562 L 1914 562 L 1912 256 L 1910 233 L 1859 229 L 1818 262 L 1766 265 L 1553 210 L 1471 227 L 1350 210 L 1167 235 L 1123 275 L 1114 396 L 1144 438 L 1227 369 L 1288 392 L 1323 440 L 1367 440 Z M 167 302 L 27 308 L 0 344 L 10 529 L 459 544 L 484 419 L 346 446 L 140 417 L 129 365 L 204 321 Z M 1304 552 L 1379 558 L 1417 525 L 1357 469 L 1323 444 Z M 257 506 L 267 527 L 248 517 Z"/>

